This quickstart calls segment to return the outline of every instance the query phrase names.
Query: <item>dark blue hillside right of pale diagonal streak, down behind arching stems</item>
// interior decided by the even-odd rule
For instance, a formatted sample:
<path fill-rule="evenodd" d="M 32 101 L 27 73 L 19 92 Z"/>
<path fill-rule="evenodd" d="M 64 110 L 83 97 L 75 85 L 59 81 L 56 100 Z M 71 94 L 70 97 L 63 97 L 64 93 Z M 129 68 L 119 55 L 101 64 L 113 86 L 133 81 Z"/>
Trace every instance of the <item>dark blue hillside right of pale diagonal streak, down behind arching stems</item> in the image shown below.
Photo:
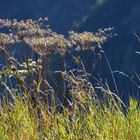
<path fill-rule="evenodd" d="M 140 1 L 127 0 L 108 0 L 100 7 L 94 7 L 91 13 L 77 22 L 78 30 L 96 31 L 102 27 L 114 27 L 117 37 L 113 37 L 105 44 L 104 49 L 107 53 L 113 70 L 123 71 L 130 77 L 135 77 L 134 73 L 140 71 L 140 55 L 135 51 L 140 51 L 140 44 L 134 32 L 140 35 Z M 108 76 L 104 62 L 100 64 L 100 71 L 103 77 Z M 98 69 L 98 71 L 99 71 Z M 132 76 L 133 75 L 133 76 Z M 110 77 L 109 77 L 110 79 Z M 117 84 L 120 91 L 124 93 L 134 93 L 139 89 L 126 77 L 117 75 Z M 135 79 L 135 81 L 137 81 Z M 139 84 L 139 81 L 137 81 Z M 139 94 L 139 93 L 138 93 Z M 125 96 L 124 96 L 125 98 Z"/>

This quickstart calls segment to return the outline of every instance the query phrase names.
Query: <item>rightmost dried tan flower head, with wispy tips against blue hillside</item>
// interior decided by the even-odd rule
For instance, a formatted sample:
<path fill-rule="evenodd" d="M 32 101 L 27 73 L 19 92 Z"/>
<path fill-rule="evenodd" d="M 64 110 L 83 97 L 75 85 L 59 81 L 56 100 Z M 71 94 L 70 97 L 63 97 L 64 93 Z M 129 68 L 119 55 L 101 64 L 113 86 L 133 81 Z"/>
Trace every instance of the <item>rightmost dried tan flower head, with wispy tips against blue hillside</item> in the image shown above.
<path fill-rule="evenodd" d="M 100 29 L 100 32 L 95 34 L 91 32 L 75 33 L 69 32 L 69 40 L 71 44 L 76 46 L 76 50 L 95 50 L 95 47 L 101 45 L 110 37 L 109 33 L 112 28 Z M 102 34 L 101 34 L 102 32 Z"/>

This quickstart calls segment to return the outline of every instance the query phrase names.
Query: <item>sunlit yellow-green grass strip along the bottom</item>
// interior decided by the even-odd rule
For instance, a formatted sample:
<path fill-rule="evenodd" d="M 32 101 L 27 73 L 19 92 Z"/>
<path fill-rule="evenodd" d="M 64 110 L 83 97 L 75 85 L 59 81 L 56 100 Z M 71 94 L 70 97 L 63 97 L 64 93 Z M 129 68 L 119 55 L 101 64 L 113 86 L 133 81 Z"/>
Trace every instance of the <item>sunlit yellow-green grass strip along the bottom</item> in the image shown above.
<path fill-rule="evenodd" d="M 75 105 L 73 111 L 63 108 L 63 112 L 58 113 L 55 107 L 51 112 L 41 104 L 32 108 L 27 100 L 15 97 L 14 105 L 7 102 L 0 106 L 0 139 L 139 140 L 140 108 L 137 100 L 130 99 L 126 115 L 117 103 L 107 102 L 101 106 L 98 101 L 88 101 L 81 109 Z"/>

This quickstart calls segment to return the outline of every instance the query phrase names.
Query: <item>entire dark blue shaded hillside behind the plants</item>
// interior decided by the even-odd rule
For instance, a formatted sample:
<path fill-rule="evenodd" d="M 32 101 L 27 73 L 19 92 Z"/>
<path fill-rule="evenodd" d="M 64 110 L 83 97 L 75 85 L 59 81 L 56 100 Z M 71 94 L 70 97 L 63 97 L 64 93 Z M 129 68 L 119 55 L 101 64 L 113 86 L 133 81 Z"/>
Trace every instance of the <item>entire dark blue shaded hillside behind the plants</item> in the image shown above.
<path fill-rule="evenodd" d="M 139 0 L 1 0 L 0 18 L 37 19 L 48 16 L 51 27 L 63 34 L 71 29 L 94 32 L 98 28 L 114 27 L 118 36 L 104 45 L 105 52 L 113 70 L 132 76 L 140 71 L 140 55 L 135 53 L 140 51 L 140 44 L 133 34 L 136 32 L 140 36 L 139 7 Z M 89 62 L 91 58 L 92 53 L 89 53 Z M 90 66 L 87 69 L 90 71 Z M 112 83 L 105 61 L 100 62 L 97 73 Z M 117 74 L 115 77 L 120 92 L 138 91 L 139 94 L 138 87 L 126 77 Z M 138 80 L 136 82 L 139 84 Z M 113 84 L 111 87 L 114 89 Z"/>

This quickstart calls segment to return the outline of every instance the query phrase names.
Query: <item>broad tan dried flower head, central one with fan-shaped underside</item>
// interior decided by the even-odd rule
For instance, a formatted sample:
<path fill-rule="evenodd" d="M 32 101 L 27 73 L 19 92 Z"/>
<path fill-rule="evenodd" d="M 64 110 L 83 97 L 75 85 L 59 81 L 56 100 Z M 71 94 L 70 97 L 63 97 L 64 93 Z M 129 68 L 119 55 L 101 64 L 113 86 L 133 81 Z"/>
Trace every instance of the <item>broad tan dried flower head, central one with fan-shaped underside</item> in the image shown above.
<path fill-rule="evenodd" d="M 25 38 L 24 41 L 41 56 L 48 54 L 65 54 L 70 43 L 62 36 L 54 34 L 48 37 Z"/>

